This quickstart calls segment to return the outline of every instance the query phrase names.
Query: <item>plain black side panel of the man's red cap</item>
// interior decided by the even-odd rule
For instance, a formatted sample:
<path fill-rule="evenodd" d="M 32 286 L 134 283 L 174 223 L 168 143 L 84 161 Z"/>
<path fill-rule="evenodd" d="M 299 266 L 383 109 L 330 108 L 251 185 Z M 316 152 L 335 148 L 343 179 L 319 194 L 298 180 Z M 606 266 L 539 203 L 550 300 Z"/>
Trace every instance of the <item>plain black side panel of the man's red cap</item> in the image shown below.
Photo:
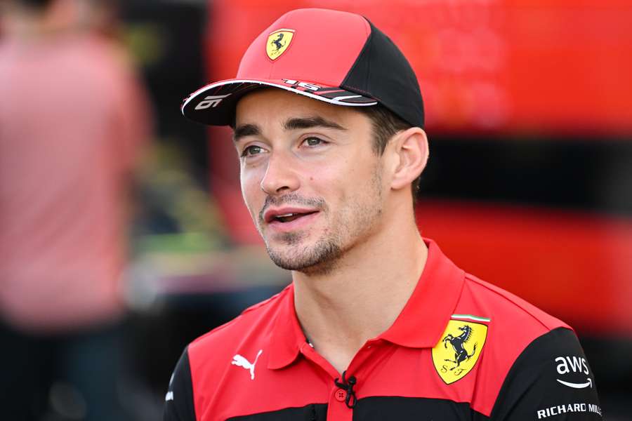
<path fill-rule="evenodd" d="M 393 41 L 370 21 L 369 25 L 371 34 L 341 88 L 376 98 L 412 126 L 423 128 L 423 100 L 415 72 Z"/>

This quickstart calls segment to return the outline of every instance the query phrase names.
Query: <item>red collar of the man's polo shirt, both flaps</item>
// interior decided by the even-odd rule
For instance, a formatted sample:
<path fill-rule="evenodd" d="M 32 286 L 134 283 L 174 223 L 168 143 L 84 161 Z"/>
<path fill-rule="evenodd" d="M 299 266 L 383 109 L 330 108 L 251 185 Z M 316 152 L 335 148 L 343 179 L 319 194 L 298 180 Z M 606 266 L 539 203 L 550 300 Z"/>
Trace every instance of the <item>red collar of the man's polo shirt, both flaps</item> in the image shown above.
<path fill-rule="evenodd" d="M 428 259 L 417 286 L 393 326 L 377 339 L 402 347 L 434 347 L 456 308 L 465 272 L 442 253 L 435 241 L 423 241 L 428 246 Z M 282 302 L 270 339 L 268 368 L 272 369 L 289 366 L 301 347 L 307 345 L 294 310 L 294 284 L 284 290 L 280 299 Z"/>

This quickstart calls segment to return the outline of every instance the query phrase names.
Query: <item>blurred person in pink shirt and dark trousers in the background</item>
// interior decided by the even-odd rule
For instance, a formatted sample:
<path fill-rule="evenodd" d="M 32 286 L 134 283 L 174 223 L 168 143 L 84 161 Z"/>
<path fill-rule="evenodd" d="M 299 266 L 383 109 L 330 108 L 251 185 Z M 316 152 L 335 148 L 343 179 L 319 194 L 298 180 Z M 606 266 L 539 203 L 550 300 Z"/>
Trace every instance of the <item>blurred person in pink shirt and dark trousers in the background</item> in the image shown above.
<path fill-rule="evenodd" d="M 143 88 L 110 2 L 0 2 L 3 420 L 125 420 L 117 396 Z"/>

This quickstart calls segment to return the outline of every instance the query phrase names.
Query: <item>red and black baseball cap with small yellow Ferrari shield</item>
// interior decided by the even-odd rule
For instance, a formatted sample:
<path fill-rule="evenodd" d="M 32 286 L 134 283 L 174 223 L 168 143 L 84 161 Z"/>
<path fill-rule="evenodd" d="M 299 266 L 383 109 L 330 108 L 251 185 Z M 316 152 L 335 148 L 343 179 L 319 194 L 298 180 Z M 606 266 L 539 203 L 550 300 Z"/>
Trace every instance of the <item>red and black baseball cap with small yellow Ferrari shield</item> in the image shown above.
<path fill-rule="evenodd" d="M 243 95 L 272 86 L 348 107 L 381 104 L 423 127 L 423 100 L 408 60 L 369 20 L 305 8 L 282 15 L 249 46 L 237 77 L 198 89 L 182 105 L 193 121 L 228 126 Z"/>

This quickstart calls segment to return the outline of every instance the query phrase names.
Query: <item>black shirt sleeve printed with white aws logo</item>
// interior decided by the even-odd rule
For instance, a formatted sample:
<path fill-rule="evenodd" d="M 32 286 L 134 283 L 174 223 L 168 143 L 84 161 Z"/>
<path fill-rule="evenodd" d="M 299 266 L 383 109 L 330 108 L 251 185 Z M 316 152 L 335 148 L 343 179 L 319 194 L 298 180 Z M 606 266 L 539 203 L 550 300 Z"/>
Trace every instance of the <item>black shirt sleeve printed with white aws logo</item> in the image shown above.
<path fill-rule="evenodd" d="M 520 354 L 503 382 L 490 419 L 602 419 L 595 378 L 572 330 L 551 330 Z"/>

